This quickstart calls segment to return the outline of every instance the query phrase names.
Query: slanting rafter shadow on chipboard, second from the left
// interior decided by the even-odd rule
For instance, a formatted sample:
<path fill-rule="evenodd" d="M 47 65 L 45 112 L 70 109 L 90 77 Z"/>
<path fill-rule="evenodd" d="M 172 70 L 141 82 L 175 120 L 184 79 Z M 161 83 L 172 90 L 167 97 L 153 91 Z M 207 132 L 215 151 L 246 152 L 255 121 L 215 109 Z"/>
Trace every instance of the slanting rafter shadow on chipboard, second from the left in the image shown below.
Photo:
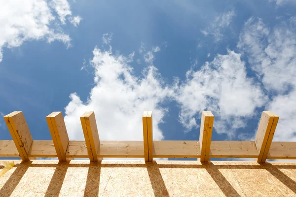
<path fill-rule="evenodd" d="M 44 197 L 58 197 L 61 192 L 67 169 L 69 167 L 69 162 L 59 162 L 55 165 L 56 168 L 54 170 L 53 176 L 50 180 Z"/>

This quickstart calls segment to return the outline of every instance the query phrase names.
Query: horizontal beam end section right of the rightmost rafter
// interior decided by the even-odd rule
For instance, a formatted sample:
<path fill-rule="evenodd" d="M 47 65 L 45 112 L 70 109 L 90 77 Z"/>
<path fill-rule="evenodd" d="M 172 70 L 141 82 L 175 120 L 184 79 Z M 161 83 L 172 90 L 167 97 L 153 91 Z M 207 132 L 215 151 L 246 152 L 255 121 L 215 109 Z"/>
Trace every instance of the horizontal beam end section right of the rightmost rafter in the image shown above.
<path fill-rule="evenodd" d="M 296 159 L 296 142 L 271 142 L 267 159 Z"/>

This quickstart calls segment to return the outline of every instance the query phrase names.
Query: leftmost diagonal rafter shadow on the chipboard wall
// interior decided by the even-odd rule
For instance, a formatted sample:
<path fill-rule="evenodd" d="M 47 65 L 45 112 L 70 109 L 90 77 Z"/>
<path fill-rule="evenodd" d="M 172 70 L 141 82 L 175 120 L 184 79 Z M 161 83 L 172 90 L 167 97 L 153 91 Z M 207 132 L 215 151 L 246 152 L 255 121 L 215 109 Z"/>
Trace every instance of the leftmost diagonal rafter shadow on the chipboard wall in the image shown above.
<path fill-rule="evenodd" d="M 10 175 L 10 177 L 0 190 L 0 194 L 3 195 L 1 197 L 10 197 L 10 195 L 30 167 L 31 163 L 32 162 L 21 162 L 20 164 L 15 165 L 16 169 Z"/>

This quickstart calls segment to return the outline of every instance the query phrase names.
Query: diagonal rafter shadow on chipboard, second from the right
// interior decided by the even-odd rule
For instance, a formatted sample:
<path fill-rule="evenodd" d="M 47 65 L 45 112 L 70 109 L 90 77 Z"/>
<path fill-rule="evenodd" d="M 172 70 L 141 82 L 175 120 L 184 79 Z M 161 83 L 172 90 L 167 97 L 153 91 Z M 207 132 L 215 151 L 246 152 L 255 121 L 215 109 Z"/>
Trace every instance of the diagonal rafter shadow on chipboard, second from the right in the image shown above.
<path fill-rule="evenodd" d="M 236 190 L 232 187 L 232 185 L 227 181 L 227 179 L 223 176 L 223 174 L 219 171 L 217 166 L 213 163 L 202 163 L 204 168 L 213 178 L 215 183 L 219 186 L 220 190 L 224 193 L 226 197 L 240 197 L 240 195 L 236 192 Z M 228 165 L 225 165 L 228 166 Z M 224 167 L 225 167 L 224 166 Z M 220 166 L 220 169 L 223 167 Z"/>

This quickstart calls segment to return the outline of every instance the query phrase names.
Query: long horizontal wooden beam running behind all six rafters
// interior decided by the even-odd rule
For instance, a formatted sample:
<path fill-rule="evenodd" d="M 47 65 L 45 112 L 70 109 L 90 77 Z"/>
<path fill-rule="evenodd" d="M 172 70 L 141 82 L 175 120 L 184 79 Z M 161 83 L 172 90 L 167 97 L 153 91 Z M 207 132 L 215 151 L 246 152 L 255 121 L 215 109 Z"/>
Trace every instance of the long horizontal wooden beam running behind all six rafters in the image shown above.
<path fill-rule="evenodd" d="M 199 141 L 153 141 L 154 158 L 200 158 Z M 34 140 L 29 157 L 56 158 L 52 140 Z M 20 157 L 13 140 L 0 140 L 0 157 Z M 143 141 L 100 141 L 101 158 L 144 158 Z M 69 141 L 66 158 L 89 158 L 85 141 Z M 210 158 L 258 158 L 255 141 L 212 141 Z M 296 142 L 272 142 L 267 159 L 296 159 Z"/>

